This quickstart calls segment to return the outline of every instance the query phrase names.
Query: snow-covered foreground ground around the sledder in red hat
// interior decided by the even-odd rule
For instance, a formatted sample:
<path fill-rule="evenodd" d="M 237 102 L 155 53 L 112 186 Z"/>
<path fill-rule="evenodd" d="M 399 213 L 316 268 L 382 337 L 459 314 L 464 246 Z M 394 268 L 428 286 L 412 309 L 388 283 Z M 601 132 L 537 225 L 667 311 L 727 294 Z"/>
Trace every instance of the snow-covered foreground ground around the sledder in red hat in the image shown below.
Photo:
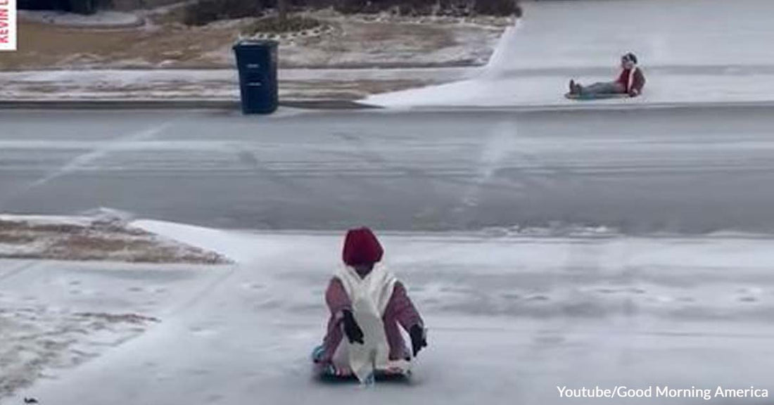
<path fill-rule="evenodd" d="M 69 359 L 74 350 L 94 357 L 76 368 L 43 362 L 35 372 L 43 378 L 16 389 L 9 403 L 34 396 L 79 405 L 529 404 L 563 401 L 557 386 L 772 389 L 768 237 L 624 237 L 596 229 L 562 237 L 538 230 L 382 235 L 388 265 L 409 285 L 430 327 L 430 347 L 408 386 L 362 390 L 310 379 L 308 355 L 324 331 L 322 295 L 338 265 L 340 234 L 132 225 L 222 249 L 238 264 L 3 261 L 0 303 L 6 324 L 12 322 L 2 331 L 12 338 L 2 347 L 26 357 L 6 356 L 0 379 L 16 381 L 9 370 L 27 369 L 22 374 L 29 376 L 24 359 Z M 33 326 L 70 345 L 43 349 L 36 339 L 21 339 L 30 308 L 64 308 L 67 316 L 42 316 Z M 102 340 L 90 330 L 59 332 L 62 323 L 79 327 L 74 314 L 97 311 L 152 320 L 111 326 L 111 342 L 135 338 L 122 345 L 94 344 Z M 755 403 L 740 403 L 747 401 Z"/>

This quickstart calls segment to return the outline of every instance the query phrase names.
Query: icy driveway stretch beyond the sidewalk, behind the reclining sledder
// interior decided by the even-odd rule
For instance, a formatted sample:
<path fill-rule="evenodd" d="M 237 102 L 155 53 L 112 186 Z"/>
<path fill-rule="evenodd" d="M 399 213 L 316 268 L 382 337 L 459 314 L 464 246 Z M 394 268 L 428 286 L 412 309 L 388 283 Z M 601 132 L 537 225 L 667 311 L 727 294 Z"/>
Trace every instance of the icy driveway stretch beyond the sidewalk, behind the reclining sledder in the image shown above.
<path fill-rule="evenodd" d="M 522 29 L 492 56 L 498 70 L 615 64 L 632 51 L 645 66 L 774 63 L 769 0 L 525 2 Z"/>

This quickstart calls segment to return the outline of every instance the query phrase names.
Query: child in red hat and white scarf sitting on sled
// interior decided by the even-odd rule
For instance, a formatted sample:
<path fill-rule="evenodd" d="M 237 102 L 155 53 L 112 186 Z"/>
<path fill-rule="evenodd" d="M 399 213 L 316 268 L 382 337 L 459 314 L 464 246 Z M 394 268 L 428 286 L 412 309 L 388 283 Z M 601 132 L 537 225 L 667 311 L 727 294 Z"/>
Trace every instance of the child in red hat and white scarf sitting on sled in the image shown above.
<path fill-rule="evenodd" d="M 318 365 L 332 366 L 336 373 L 351 371 L 360 377 L 353 352 L 365 345 L 384 352 L 382 367 L 389 367 L 391 362 L 408 362 L 411 356 L 399 325 L 411 337 L 410 354 L 416 357 L 427 345 L 422 318 L 406 294 L 406 288 L 378 264 L 382 254 L 382 245 L 368 228 L 347 232 L 341 254 L 345 266 L 330 279 L 325 293 L 330 318 L 323 345 L 313 355 Z M 369 315 L 374 316 L 369 318 Z M 378 327 L 372 327 L 374 322 L 369 323 L 370 319 L 378 319 Z M 365 324 L 363 328 L 361 323 Z M 342 344 L 344 336 L 347 341 Z M 348 352 L 349 361 L 342 359 L 346 355 L 339 356 L 342 349 Z M 350 370 L 341 371 L 348 366 Z"/>

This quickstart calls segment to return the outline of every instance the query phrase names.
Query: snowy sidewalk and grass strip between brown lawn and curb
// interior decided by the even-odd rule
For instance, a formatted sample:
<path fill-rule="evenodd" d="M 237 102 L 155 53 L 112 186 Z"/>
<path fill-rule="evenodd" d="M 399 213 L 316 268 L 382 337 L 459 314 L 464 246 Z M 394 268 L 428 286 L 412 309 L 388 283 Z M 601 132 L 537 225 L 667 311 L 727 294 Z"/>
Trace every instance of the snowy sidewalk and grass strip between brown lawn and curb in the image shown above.
<path fill-rule="evenodd" d="M 351 101 L 447 83 L 475 68 L 279 70 L 283 101 Z M 236 70 L 36 70 L 0 72 L 0 104 L 29 101 L 205 101 L 239 99 Z"/>

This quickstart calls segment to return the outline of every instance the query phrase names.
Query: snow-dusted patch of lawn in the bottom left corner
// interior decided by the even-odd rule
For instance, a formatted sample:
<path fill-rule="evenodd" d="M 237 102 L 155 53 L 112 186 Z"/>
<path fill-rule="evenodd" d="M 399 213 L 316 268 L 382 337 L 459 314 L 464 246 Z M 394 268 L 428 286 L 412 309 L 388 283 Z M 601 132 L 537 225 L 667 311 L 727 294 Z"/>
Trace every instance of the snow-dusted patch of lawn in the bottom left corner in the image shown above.
<path fill-rule="evenodd" d="M 217 267 L 0 260 L 0 400 L 135 339 L 216 276 Z"/>

